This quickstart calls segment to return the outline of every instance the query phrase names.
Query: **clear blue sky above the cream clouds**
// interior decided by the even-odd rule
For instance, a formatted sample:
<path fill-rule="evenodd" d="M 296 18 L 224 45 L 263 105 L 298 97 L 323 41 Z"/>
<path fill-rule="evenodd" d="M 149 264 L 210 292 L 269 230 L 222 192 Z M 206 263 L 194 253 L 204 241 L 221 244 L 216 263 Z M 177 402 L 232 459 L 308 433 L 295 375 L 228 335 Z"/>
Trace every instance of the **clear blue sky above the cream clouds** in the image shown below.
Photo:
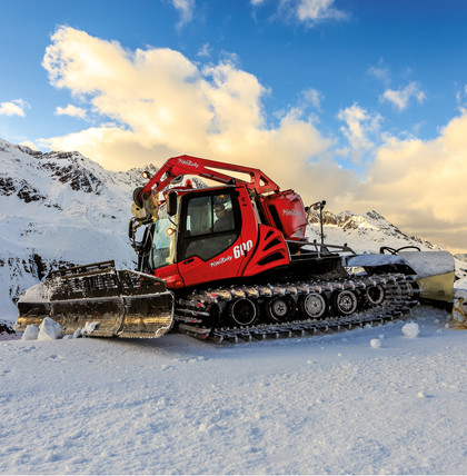
<path fill-rule="evenodd" d="M 393 133 L 428 139 L 466 102 L 467 2 L 337 1 L 331 8 L 342 18 L 316 21 L 299 20 L 297 3 L 187 1 L 190 17 L 183 21 L 169 0 L 2 0 L 0 102 L 19 98 L 28 106 L 26 119 L 1 117 L 0 133 L 37 140 L 81 127 L 53 115 L 67 97 L 50 86 L 41 67 L 59 26 L 132 50 L 172 48 L 200 62 L 236 56 L 241 69 L 270 89 L 264 100 L 269 121 L 311 88 L 320 93 L 319 118 L 331 133 L 340 127 L 338 111 L 357 102 L 380 113 Z M 381 99 L 386 90 L 404 91 L 410 83 L 423 100 L 413 93 L 400 109 Z"/>

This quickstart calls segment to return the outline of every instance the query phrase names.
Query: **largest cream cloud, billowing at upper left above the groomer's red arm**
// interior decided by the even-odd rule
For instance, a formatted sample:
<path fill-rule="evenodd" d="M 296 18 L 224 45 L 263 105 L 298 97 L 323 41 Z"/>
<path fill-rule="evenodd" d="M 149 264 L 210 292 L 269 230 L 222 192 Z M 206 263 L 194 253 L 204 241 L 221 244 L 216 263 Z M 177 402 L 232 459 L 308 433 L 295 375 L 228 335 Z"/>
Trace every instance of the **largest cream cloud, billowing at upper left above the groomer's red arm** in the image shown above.
<path fill-rule="evenodd" d="M 301 182 L 308 189 L 309 161 L 331 143 L 296 110 L 268 129 L 262 109 L 268 90 L 230 58 L 199 67 L 171 49 L 131 52 L 63 27 L 53 34 L 43 67 L 52 85 L 88 100 L 102 122 L 121 127 L 44 139 L 42 147 L 80 150 L 110 169 L 191 153 L 255 165 L 281 177 L 285 187 Z"/>

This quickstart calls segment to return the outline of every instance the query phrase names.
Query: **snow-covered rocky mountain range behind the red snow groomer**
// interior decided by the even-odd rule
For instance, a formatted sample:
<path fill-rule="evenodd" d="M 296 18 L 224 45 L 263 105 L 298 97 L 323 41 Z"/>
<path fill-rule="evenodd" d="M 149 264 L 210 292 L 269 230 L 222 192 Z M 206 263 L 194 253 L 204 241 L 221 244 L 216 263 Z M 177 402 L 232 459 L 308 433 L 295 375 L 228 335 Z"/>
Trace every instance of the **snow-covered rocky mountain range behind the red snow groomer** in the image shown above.
<path fill-rule="evenodd" d="M 108 259 L 135 268 L 127 230 L 142 170 L 157 168 L 115 172 L 79 152 L 42 153 L 0 139 L 0 324 L 16 320 L 13 300 L 53 268 Z M 319 216 L 311 211 L 311 240 L 320 240 L 319 229 Z M 326 242 L 348 244 L 357 252 L 379 252 L 381 246 L 439 249 L 376 211 L 325 210 L 324 229 Z"/>

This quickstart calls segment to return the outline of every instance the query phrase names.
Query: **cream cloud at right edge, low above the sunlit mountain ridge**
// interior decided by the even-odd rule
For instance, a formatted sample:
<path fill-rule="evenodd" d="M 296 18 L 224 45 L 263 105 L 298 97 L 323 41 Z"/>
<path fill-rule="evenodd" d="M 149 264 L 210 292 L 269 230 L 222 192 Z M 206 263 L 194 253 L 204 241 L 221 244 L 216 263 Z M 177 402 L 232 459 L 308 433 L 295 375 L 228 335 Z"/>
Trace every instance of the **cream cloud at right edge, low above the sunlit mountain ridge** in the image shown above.
<path fill-rule="evenodd" d="M 465 252 L 466 130 L 467 112 L 450 120 L 434 140 L 387 138 L 375 150 L 365 184 L 354 182 L 340 195 L 340 207 L 376 209 L 404 230 Z"/>

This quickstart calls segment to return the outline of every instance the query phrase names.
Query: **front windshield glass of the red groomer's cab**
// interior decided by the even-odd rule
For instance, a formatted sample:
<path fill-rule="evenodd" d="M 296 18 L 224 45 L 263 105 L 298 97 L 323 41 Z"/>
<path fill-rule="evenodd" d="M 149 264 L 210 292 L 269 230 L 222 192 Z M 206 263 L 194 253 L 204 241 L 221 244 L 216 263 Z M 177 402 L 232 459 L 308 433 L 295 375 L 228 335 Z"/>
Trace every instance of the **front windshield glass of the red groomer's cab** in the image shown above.
<path fill-rule="evenodd" d="M 150 234 L 152 234 L 152 246 L 149 252 L 149 266 L 152 269 L 162 268 L 171 265 L 175 257 L 176 234 L 168 234 L 168 229 L 173 229 L 166 208 L 159 209 L 159 218 L 153 224 Z"/>

